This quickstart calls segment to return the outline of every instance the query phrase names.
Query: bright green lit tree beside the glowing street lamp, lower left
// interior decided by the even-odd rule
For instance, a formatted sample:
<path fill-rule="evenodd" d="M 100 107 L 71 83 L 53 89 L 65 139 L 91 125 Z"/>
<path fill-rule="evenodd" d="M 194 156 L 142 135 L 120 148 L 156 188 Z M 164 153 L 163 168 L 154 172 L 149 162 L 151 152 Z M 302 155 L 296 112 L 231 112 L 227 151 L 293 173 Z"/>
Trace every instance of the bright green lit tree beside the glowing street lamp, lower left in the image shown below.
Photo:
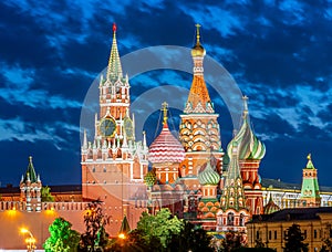
<path fill-rule="evenodd" d="M 72 224 L 63 218 L 56 218 L 49 227 L 50 238 L 44 242 L 46 252 L 77 251 L 80 233 L 71 229 Z"/>

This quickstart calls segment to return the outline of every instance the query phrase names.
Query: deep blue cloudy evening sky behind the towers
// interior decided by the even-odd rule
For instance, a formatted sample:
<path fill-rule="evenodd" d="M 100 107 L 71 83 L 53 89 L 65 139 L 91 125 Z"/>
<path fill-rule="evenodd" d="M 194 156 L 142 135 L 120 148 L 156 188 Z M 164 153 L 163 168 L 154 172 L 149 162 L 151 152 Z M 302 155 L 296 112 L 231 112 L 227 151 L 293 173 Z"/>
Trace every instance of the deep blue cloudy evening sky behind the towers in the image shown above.
<path fill-rule="evenodd" d="M 190 48 L 195 41 L 194 24 L 199 22 L 207 54 L 222 63 L 250 98 L 252 126 L 267 145 L 262 176 L 277 178 L 288 174 L 281 179 L 301 182 L 305 156 L 312 151 L 319 175 L 325 175 L 320 182 L 329 185 L 331 10 L 325 1 L 291 0 L 1 2 L 0 153 L 4 165 L 12 168 L 1 178 L 2 183 L 18 183 L 29 155 L 34 156 L 43 183 L 81 181 L 81 105 L 107 65 L 113 22 L 118 27 L 122 56 L 153 45 Z M 166 62 L 176 54 L 164 50 L 148 56 L 151 62 L 159 57 Z M 137 60 L 144 63 L 144 59 Z M 191 63 L 189 55 L 176 57 L 176 62 Z M 216 81 L 214 77 L 210 81 Z M 224 81 L 220 76 L 220 85 L 226 85 Z M 132 101 L 160 86 L 160 97 L 174 99 L 167 85 L 188 90 L 190 83 L 191 75 L 187 73 L 147 72 L 131 80 Z M 222 101 L 227 94 L 220 95 L 208 84 L 220 115 L 226 148 L 232 134 L 234 112 Z M 227 88 L 226 85 L 224 91 Z M 240 97 L 237 99 L 232 103 L 241 103 Z M 186 97 L 178 101 L 185 102 Z M 159 107 L 155 99 L 148 99 L 144 107 L 151 113 L 145 123 L 149 143 Z M 173 108 L 175 128 L 178 107 Z M 236 107 L 240 114 L 241 105 Z M 19 158 L 7 158 L 13 154 Z"/>

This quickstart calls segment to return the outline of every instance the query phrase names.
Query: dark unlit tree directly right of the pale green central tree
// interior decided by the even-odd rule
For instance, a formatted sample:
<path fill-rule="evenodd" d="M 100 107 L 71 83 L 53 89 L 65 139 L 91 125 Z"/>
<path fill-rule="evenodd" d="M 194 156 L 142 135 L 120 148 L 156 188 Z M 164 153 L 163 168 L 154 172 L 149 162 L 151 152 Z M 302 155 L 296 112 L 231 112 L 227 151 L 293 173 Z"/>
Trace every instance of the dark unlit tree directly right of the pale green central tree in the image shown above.
<path fill-rule="evenodd" d="M 179 233 L 172 235 L 172 239 L 167 244 L 167 250 L 178 252 L 214 252 L 215 250 L 210 246 L 211 239 L 212 237 L 208 235 L 204 229 L 185 221 L 183 230 Z"/>

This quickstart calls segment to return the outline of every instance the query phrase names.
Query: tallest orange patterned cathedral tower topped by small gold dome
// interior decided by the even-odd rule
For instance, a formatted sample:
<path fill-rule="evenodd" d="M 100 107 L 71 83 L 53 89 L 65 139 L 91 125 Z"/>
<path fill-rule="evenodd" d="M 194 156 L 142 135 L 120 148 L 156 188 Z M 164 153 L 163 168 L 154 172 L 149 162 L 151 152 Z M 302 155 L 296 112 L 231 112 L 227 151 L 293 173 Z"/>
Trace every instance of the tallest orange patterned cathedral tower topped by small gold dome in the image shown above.
<path fill-rule="evenodd" d="M 217 171 L 221 172 L 222 148 L 220 128 L 205 80 L 203 61 L 206 54 L 200 44 L 199 24 L 196 24 L 196 44 L 191 50 L 194 62 L 194 77 L 184 113 L 180 115 L 179 140 L 186 156 L 180 164 L 180 175 L 189 189 L 198 189 L 198 174 L 211 158 L 217 164 Z"/>

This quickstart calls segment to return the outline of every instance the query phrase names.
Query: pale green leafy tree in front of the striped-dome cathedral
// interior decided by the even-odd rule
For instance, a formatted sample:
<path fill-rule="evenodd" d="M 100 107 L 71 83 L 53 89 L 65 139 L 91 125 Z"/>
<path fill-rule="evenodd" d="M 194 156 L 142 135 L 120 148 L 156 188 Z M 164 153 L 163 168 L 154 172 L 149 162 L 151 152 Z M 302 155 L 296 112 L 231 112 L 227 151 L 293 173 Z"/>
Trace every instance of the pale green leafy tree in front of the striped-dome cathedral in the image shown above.
<path fill-rule="evenodd" d="M 167 241 L 173 234 L 179 234 L 184 222 L 173 217 L 167 208 L 160 209 L 155 216 L 143 212 L 137 223 L 137 232 L 146 241 L 149 248 L 166 249 Z M 162 251 L 156 250 L 156 251 Z"/>

